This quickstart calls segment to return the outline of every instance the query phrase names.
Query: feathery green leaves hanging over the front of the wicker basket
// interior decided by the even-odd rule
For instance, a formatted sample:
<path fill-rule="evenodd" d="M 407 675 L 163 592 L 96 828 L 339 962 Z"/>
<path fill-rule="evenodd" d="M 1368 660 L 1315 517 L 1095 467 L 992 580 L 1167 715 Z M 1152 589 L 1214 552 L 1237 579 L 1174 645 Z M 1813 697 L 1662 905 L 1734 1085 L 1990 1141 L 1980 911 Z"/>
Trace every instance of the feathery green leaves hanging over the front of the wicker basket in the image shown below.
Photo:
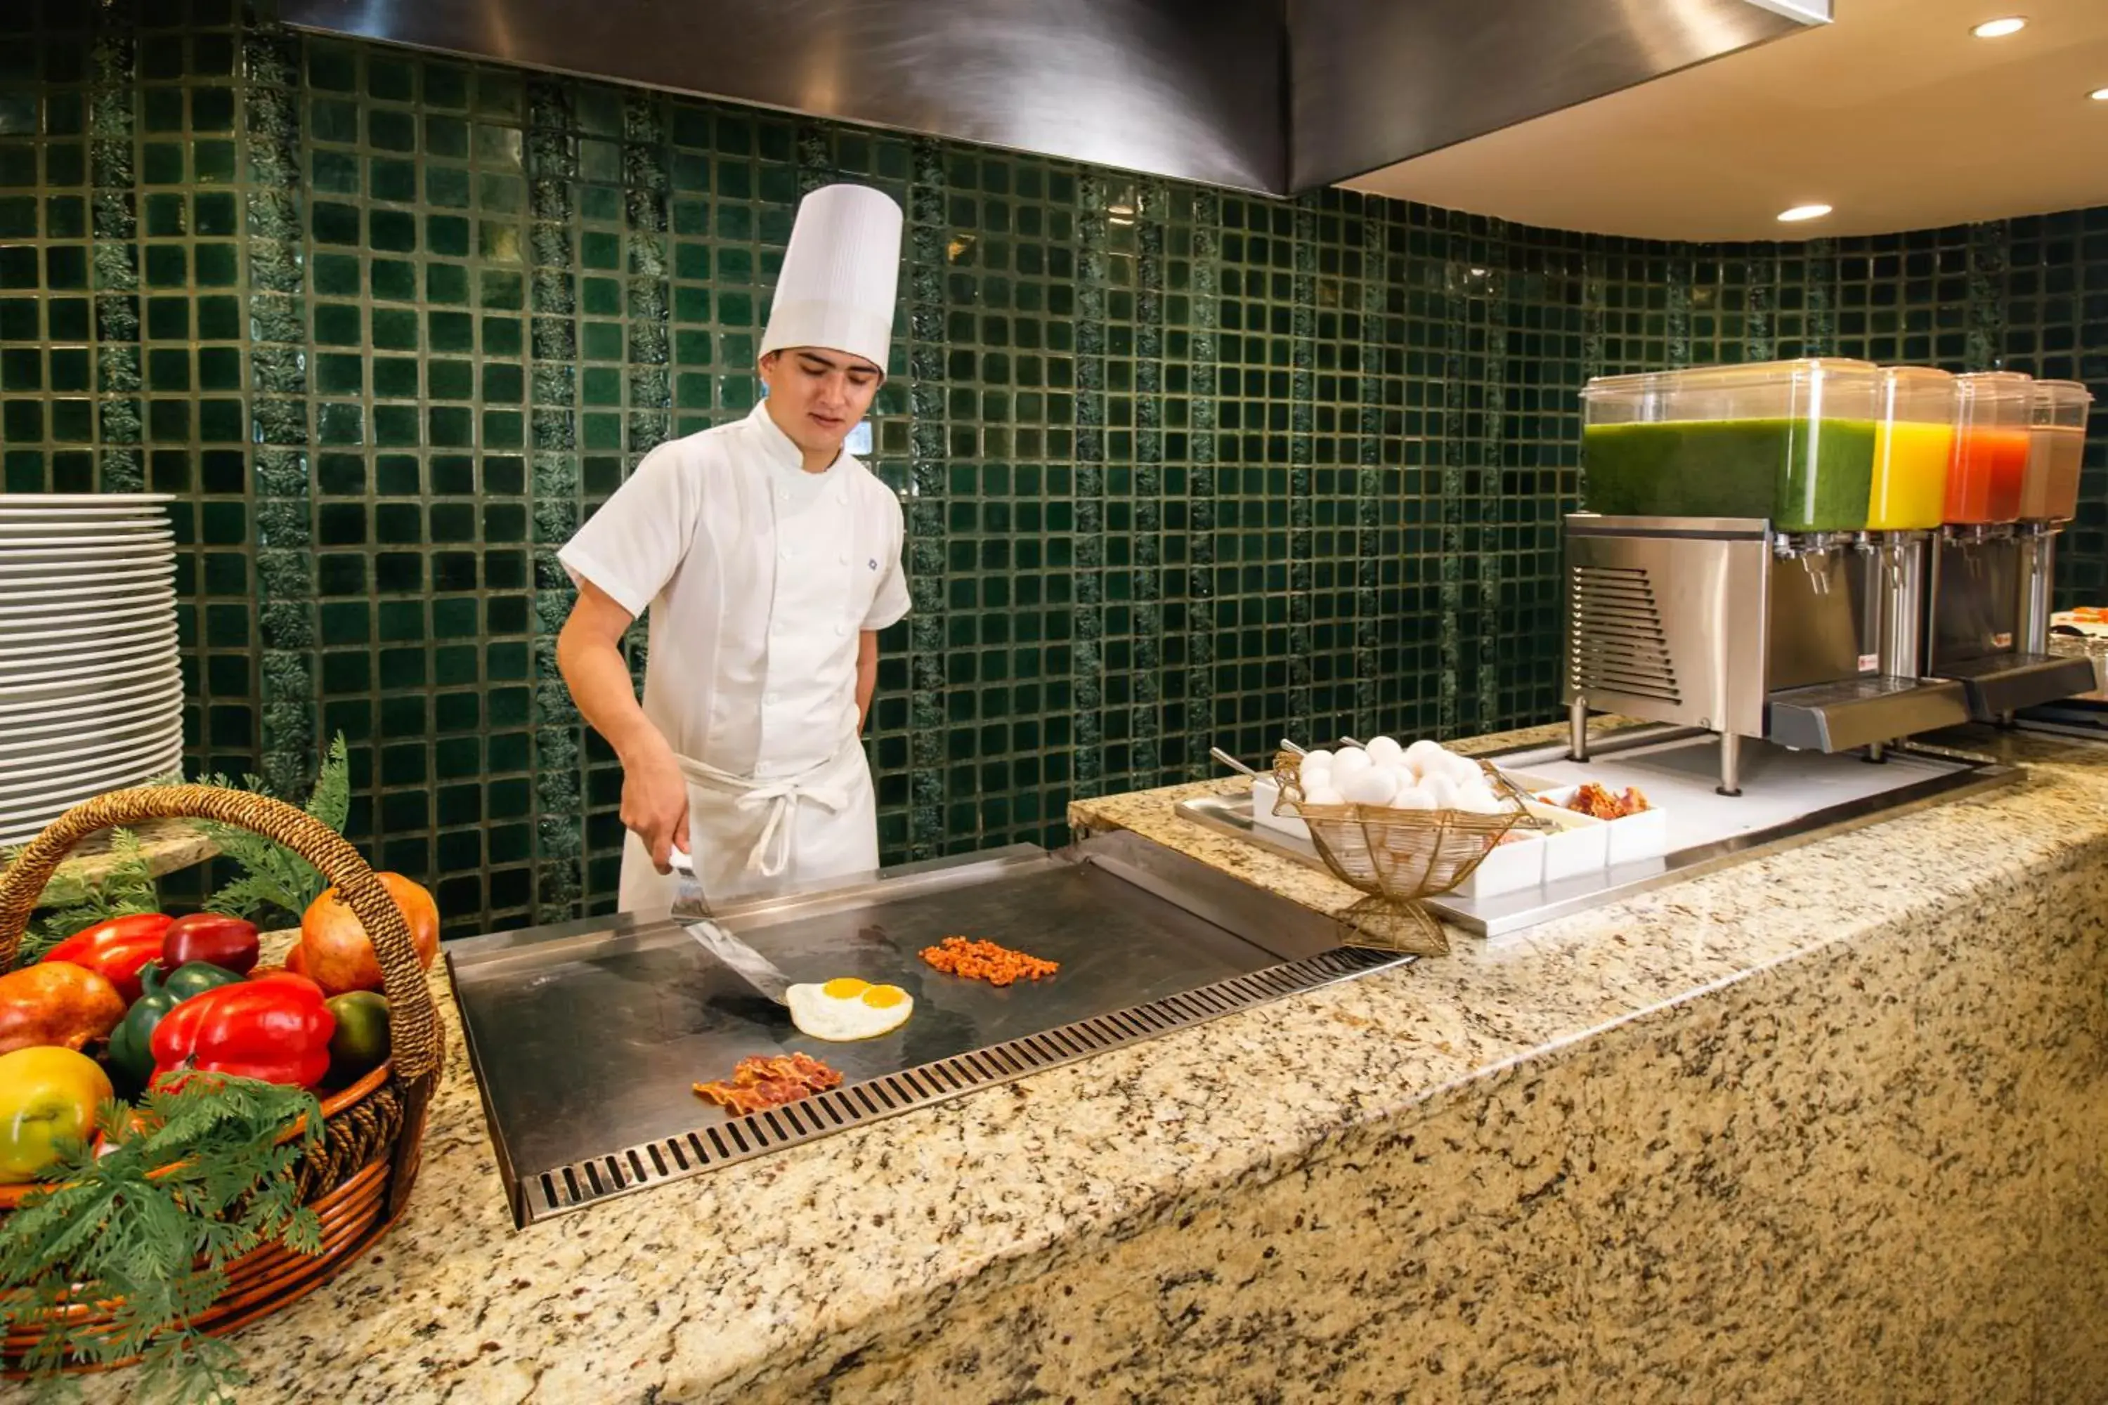
<path fill-rule="evenodd" d="M 299 1116 L 301 1133 L 280 1144 Z M 232 1401 L 249 1376 L 192 1321 L 226 1289 L 230 1260 L 264 1243 L 320 1253 L 320 1222 L 293 1180 L 320 1140 L 320 1104 L 304 1089 L 192 1074 L 150 1089 L 137 1119 L 124 1102 L 103 1104 L 99 1125 L 114 1142 L 105 1154 L 72 1144 L 40 1178 L 48 1188 L 0 1222 L 0 1323 L 38 1331 L 8 1365 L 63 1392 L 70 1359 L 141 1357 L 141 1399 Z M 57 1314 L 76 1283 L 93 1283 L 99 1302 L 122 1298 L 110 1329 L 63 1331 Z"/>

